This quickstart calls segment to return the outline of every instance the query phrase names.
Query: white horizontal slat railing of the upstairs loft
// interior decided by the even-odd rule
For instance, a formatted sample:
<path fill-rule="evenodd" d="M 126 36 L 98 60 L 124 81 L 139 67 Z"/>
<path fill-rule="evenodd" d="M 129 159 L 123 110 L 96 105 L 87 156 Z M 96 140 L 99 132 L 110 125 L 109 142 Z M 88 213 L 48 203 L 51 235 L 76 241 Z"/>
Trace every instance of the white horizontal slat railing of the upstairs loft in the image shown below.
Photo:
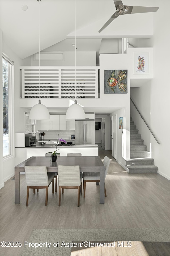
<path fill-rule="evenodd" d="M 20 67 L 22 98 L 98 98 L 99 67 Z"/>

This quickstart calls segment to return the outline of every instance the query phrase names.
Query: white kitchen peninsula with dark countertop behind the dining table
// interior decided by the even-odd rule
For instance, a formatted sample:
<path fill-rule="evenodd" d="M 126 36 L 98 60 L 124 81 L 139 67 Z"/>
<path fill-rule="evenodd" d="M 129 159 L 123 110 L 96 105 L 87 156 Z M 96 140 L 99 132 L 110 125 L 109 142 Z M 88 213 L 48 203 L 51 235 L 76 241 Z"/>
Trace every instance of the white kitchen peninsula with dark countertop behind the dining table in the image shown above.
<path fill-rule="evenodd" d="M 86 145 L 62 145 L 57 146 L 59 149 L 57 152 L 62 157 L 67 156 L 67 153 L 81 153 L 82 156 L 98 156 L 99 146 L 97 144 Z M 42 144 L 42 142 L 36 142 L 36 145 L 29 147 L 16 147 L 15 148 L 15 165 L 25 161 L 30 157 L 43 157 L 45 153 L 54 152 L 56 150 L 55 144 Z"/>

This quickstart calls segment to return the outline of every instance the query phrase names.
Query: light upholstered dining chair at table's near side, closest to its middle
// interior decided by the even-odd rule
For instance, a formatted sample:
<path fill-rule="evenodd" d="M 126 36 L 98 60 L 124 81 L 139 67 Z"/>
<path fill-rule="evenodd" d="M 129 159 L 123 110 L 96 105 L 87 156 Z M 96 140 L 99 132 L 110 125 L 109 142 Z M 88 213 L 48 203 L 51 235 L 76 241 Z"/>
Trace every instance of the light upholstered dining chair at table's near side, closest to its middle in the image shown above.
<path fill-rule="evenodd" d="M 82 194 L 82 178 L 79 165 L 58 166 L 59 202 L 61 203 L 61 189 L 78 189 L 78 206 L 80 206 L 80 193 Z"/>

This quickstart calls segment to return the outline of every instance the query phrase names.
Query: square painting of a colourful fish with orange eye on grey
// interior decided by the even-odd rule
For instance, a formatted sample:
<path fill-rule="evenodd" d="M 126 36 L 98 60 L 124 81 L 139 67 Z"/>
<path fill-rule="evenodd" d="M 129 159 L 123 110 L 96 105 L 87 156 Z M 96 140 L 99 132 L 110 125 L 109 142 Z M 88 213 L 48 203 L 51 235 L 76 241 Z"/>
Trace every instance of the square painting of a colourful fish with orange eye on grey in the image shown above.
<path fill-rule="evenodd" d="M 105 93 L 112 93 L 112 92 L 127 93 L 127 70 L 105 70 L 105 71 L 111 71 L 111 74 L 107 80 L 108 87 L 107 87 L 107 90 L 105 90 L 108 92 L 105 92 Z M 109 75 L 109 72 L 105 72 L 105 75 L 106 76 Z"/>

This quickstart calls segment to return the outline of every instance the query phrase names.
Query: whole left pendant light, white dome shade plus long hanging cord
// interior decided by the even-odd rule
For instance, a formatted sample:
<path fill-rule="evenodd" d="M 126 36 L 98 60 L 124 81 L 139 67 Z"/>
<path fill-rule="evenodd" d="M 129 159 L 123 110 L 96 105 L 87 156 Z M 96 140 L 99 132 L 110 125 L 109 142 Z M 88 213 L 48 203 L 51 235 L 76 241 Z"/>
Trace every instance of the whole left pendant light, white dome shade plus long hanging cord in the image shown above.
<path fill-rule="evenodd" d="M 40 2 L 41 0 L 37 0 Z M 40 3 L 39 3 L 39 101 L 34 105 L 29 113 L 29 119 L 50 119 L 47 107 L 40 101 Z"/>

